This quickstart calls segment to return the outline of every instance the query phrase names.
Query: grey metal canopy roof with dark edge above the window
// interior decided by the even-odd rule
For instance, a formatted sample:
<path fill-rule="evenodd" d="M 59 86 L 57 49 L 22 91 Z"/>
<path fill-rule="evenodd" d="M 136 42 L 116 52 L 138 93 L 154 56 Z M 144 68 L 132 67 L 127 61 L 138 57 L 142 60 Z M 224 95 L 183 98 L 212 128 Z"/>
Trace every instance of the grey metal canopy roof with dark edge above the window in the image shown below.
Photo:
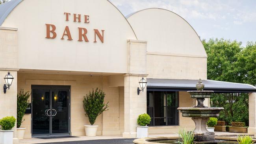
<path fill-rule="evenodd" d="M 196 90 L 195 85 L 198 80 L 191 79 L 147 79 L 147 90 L 166 90 L 166 91 L 188 91 Z M 213 90 L 215 93 L 244 93 L 256 92 L 256 87 L 225 81 L 202 80 L 204 90 Z"/>

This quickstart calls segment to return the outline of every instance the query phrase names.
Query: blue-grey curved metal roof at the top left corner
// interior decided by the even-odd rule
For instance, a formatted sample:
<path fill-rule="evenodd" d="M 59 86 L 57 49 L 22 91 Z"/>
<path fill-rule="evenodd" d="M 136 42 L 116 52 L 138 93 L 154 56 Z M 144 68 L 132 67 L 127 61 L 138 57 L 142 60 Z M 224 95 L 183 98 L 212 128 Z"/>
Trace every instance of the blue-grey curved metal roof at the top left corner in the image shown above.
<path fill-rule="evenodd" d="M 2 26 L 6 17 L 22 0 L 11 0 L 4 4 L 0 4 L 0 26 Z"/>

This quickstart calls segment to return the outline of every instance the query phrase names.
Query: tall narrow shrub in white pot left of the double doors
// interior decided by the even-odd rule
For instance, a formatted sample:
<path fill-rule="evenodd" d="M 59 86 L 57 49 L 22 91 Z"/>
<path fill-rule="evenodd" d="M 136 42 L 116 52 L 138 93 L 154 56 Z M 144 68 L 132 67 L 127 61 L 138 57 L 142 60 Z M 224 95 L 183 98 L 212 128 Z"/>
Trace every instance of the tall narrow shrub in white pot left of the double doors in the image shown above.
<path fill-rule="evenodd" d="M 30 92 L 24 92 L 23 89 L 17 94 L 17 138 L 23 139 L 26 127 L 20 127 L 21 123 L 24 121 L 23 116 L 25 114 L 26 108 L 28 107 L 28 98 L 30 97 Z"/>

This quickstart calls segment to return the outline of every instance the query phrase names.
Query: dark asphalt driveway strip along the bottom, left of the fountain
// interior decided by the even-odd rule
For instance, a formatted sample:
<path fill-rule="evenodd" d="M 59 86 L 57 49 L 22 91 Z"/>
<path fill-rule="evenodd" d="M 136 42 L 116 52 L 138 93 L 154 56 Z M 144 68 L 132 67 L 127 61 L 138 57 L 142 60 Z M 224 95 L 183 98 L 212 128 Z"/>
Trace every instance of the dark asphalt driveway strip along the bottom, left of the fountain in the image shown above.
<path fill-rule="evenodd" d="M 119 138 L 119 139 L 106 139 L 106 140 L 83 140 L 83 141 L 70 141 L 70 142 L 50 142 L 42 144 L 134 144 L 134 138 Z"/>

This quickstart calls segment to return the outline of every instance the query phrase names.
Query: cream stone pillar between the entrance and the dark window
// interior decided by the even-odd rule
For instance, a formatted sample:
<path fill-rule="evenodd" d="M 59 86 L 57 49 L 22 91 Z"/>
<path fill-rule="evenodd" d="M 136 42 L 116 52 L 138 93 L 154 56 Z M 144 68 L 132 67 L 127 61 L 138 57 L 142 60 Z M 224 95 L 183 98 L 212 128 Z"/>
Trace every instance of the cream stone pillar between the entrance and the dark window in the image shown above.
<path fill-rule="evenodd" d="M 139 80 L 147 76 L 147 42 L 128 40 L 128 74 L 124 75 L 124 138 L 136 138 L 137 117 L 147 113 L 147 89 L 137 94 Z M 146 79 L 147 80 L 147 79 Z"/>

